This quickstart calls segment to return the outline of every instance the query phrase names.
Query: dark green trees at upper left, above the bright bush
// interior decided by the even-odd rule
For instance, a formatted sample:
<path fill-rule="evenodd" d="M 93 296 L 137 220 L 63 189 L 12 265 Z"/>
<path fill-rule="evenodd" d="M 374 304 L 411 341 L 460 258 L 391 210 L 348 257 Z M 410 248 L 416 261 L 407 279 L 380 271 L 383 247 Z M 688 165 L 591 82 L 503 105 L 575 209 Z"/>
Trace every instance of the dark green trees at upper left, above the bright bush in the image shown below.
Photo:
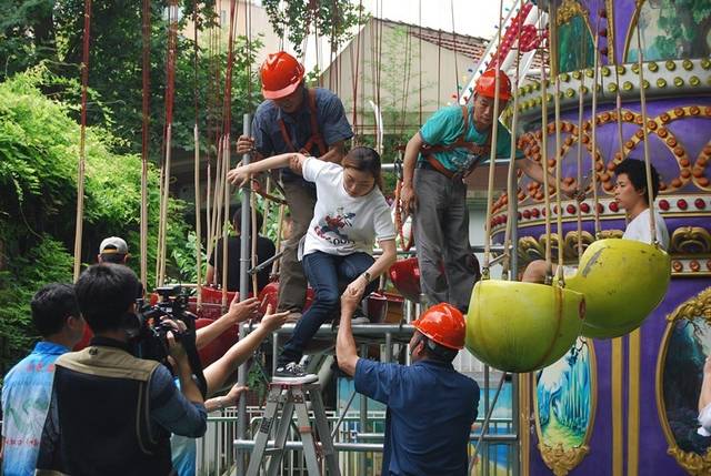
<path fill-rule="evenodd" d="M 83 42 L 83 0 L 6 0 L 12 7 L 0 16 L 0 80 L 38 64 L 44 64 L 52 74 L 46 74 L 42 91 L 68 104 L 80 104 L 80 64 Z M 118 152 L 141 151 L 142 129 L 142 2 L 113 0 L 93 2 L 89 52 L 88 123 L 111 130 Z M 193 19 L 192 0 L 179 2 L 181 19 L 179 31 Z M 150 156 L 161 156 L 166 113 L 168 30 L 166 11 L 168 0 L 151 2 L 150 20 Z M 214 24 L 214 1 L 199 2 L 200 31 Z M 3 12 L 4 14 L 4 12 Z M 40 31 L 41 30 L 41 31 Z M 41 34 L 40 34 L 41 33 Z M 38 36 L 39 34 L 39 36 Z M 238 37 L 234 44 L 232 78 L 232 110 L 249 111 L 261 100 L 256 52 L 260 38 L 247 44 Z M 173 115 L 173 146 L 193 149 L 196 97 L 201 128 L 210 124 L 214 136 L 221 126 L 227 53 L 211 51 L 208 38 L 200 41 L 196 70 L 196 48 L 192 39 L 179 36 L 176 57 L 176 91 Z M 221 72 L 217 74 L 216 72 Z M 217 80 L 216 78 L 220 78 Z M 209 104 L 209 107 L 206 107 Z M 79 118 L 79 108 L 71 110 Z M 236 114 L 232 132 L 241 131 L 242 117 Z M 210 144 L 202 141 L 207 150 Z"/>

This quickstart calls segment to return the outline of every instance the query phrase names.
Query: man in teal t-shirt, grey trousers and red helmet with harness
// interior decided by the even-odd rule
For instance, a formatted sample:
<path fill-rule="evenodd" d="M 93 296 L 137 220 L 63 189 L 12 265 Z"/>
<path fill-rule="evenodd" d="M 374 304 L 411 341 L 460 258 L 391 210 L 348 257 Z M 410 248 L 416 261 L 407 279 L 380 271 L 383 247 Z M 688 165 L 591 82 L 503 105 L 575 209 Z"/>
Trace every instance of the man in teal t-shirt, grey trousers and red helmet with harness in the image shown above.
<path fill-rule="evenodd" d="M 497 156 L 509 159 L 511 154 L 511 134 L 493 115 L 495 80 L 495 70 L 484 71 L 477 82 L 473 107 L 440 109 L 405 148 L 401 205 L 413 214 L 420 285 L 430 305 L 451 303 L 461 311 L 469 305 L 478 270 L 470 257 L 463 179 L 489 161 L 494 123 Z M 499 111 L 510 98 L 511 81 L 500 71 Z M 554 186 L 554 179 L 544 175 L 541 165 L 518 160 L 522 158 L 517 152 L 517 165 L 523 173 L 538 182 L 547 176 Z M 570 185 L 564 185 L 563 192 L 574 194 Z"/>

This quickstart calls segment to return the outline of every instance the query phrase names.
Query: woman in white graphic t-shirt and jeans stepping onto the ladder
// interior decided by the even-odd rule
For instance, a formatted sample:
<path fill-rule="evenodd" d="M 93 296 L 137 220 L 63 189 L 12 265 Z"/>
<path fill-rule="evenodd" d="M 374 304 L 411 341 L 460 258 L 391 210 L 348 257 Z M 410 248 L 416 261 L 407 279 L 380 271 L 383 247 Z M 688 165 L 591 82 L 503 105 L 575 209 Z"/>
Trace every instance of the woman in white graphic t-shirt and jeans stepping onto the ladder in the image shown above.
<path fill-rule="evenodd" d="M 395 230 L 390 207 L 382 195 L 380 155 L 370 148 L 354 148 L 342 166 L 300 153 L 276 155 L 228 173 L 233 184 L 250 174 L 290 166 L 316 183 L 313 220 L 302 241 L 302 264 L 314 291 L 311 307 L 297 323 L 291 340 L 279 356 L 274 382 L 309 383 L 299 361 L 309 341 L 339 306 L 339 282 L 347 293 L 365 296 L 378 286 L 377 278 L 395 261 Z M 383 253 L 371 256 L 375 240 Z"/>

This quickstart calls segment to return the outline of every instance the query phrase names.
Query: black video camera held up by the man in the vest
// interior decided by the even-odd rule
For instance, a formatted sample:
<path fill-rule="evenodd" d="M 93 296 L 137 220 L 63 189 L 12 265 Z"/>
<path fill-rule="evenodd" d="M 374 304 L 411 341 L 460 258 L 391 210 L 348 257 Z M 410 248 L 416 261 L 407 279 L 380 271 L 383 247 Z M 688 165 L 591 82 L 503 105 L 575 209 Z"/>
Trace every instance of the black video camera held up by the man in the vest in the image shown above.
<path fill-rule="evenodd" d="M 188 311 L 189 294 L 180 285 L 157 287 L 154 292 L 160 300 L 154 305 L 146 300 L 136 301 L 138 327 L 129 330 L 136 343 L 137 356 L 158 361 L 170 367 L 168 361 L 168 332 L 180 342 L 188 354 L 190 368 L 198 379 L 202 396 L 207 393 L 207 383 L 202 374 L 202 363 L 196 346 L 196 320 L 198 316 Z M 167 320 L 182 322 L 184 331 L 177 331 Z"/>

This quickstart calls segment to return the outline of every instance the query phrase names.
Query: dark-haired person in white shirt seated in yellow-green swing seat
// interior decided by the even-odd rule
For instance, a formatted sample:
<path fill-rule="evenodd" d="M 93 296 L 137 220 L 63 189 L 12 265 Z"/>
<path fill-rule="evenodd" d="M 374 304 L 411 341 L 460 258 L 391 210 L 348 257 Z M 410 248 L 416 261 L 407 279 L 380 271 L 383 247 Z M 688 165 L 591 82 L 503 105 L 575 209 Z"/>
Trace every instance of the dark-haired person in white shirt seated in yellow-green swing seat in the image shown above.
<path fill-rule="evenodd" d="M 652 168 L 652 196 L 657 199 L 659 193 L 659 174 Z M 630 222 L 624 230 L 624 240 L 637 240 L 643 243 L 652 243 L 652 234 L 649 229 L 649 195 L 647 193 L 647 171 L 644 162 L 637 159 L 627 159 L 614 168 L 617 182 L 614 184 L 614 201 L 627 212 Z M 662 215 L 654 210 L 654 226 L 657 229 L 657 241 L 664 250 L 669 249 L 669 231 Z M 575 269 L 564 273 L 574 274 Z M 557 266 L 553 265 L 553 274 Z M 531 262 L 523 272 L 521 281 L 528 283 L 543 283 L 545 280 L 545 261 L 537 260 Z"/>

